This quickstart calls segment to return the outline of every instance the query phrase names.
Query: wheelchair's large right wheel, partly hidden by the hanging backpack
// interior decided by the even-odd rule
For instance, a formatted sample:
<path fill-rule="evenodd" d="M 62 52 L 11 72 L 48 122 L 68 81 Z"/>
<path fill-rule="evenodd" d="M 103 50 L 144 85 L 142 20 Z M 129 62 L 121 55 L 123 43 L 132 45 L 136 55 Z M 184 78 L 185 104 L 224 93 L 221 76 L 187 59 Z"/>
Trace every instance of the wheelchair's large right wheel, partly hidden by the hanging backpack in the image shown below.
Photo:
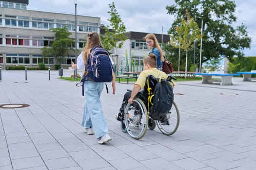
<path fill-rule="evenodd" d="M 167 113 L 166 117 L 161 120 L 156 120 L 158 129 L 164 135 L 173 135 L 179 125 L 179 111 L 176 102 L 173 102 L 172 108 Z"/>

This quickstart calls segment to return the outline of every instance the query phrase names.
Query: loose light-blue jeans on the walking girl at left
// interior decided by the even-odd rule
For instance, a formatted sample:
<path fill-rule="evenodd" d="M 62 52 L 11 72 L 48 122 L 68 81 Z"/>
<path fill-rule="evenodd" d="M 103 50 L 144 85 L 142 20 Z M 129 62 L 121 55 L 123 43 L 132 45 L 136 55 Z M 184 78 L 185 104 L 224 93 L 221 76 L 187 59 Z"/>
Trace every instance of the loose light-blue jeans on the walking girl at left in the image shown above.
<path fill-rule="evenodd" d="M 108 134 L 108 127 L 104 118 L 100 94 L 103 90 L 104 83 L 85 81 L 84 92 L 85 102 L 83 108 L 83 118 L 81 125 L 84 128 L 93 128 L 96 138 Z"/>

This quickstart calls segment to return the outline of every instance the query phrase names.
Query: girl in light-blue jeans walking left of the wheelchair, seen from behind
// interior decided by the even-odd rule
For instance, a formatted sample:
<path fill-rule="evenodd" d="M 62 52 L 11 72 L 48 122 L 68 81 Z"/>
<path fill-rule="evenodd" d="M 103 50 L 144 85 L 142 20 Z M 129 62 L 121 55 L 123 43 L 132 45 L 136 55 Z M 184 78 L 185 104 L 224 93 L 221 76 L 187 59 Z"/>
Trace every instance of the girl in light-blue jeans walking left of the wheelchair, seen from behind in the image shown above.
<path fill-rule="evenodd" d="M 84 64 L 88 67 L 88 58 L 90 57 L 91 49 L 100 45 L 100 37 L 97 32 L 91 32 L 87 36 L 87 43 L 83 48 L 83 52 L 78 56 L 77 64 L 72 62 L 72 68 L 81 69 Z M 98 144 L 107 143 L 111 140 L 108 134 L 108 127 L 104 118 L 101 102 L 99 100 L 100 94 L 103 90 L 104 83 L 94 82 L 88 78 L 88 68 L 85 68 L 84 75 L 86 76 L 84 82 L 84 92 L 86 100 L 83 108 L 83 117 L 81 125 L 87 135 L 95 134 L 98 139 Z M 112 88 L 113 94 L 116 92 L 116 81 L 114 71 L 112 70 Z"/>

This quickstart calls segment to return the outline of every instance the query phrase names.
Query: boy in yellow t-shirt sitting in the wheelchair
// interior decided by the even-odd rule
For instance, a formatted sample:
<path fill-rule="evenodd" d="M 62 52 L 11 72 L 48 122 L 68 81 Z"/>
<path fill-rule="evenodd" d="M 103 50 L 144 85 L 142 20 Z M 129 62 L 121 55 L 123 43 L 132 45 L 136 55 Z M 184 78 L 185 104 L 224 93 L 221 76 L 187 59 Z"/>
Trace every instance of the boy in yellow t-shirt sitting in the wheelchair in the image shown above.
<path fill-rule="evenodd" d="M 143 102 L 147 102 L 145 100 L 145 97 L 143 96 L 143 94 L 145 93 L 143 92 L 142 89 L 145 86 L 148 75 L 152 75 L 156 78 L 164 78 L 164 79 L 167 79 L 168 77 L 166 73 L 157 69 L 157 57 L 155 54 L 150 53 L 150 55 L 144 59 L 143 63 L 144 63 L 144 70 L 139 74 L 138 79 L 134 84 L 132 91 L 128 90 L 124 94 L 123 102 L 121 104 L 121 108 L 119 109 L 119 113 L 117 115 L 118 121 L 123 120 L 125 106 L 127 105 L 127 103 L 132 104 L 135 97 L 138 97 Z M 175 82 L 172 81 L 171 85 L 174 88 Z"/>

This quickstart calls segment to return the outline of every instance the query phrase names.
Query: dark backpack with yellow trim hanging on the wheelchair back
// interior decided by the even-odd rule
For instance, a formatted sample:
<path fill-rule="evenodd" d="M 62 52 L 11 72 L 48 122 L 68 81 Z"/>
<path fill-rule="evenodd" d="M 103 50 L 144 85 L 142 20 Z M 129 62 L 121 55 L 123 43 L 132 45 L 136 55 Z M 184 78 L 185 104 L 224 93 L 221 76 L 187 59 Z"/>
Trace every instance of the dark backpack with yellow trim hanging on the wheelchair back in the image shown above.
<path fill-rule="evenodd" d="M 146 78 L 143 96 L 152 119 L 163 119 L 172 107 L 174 101 L 173 87 L 168 80 L 169 77 L 165 80 L 152 75 Z"/>

